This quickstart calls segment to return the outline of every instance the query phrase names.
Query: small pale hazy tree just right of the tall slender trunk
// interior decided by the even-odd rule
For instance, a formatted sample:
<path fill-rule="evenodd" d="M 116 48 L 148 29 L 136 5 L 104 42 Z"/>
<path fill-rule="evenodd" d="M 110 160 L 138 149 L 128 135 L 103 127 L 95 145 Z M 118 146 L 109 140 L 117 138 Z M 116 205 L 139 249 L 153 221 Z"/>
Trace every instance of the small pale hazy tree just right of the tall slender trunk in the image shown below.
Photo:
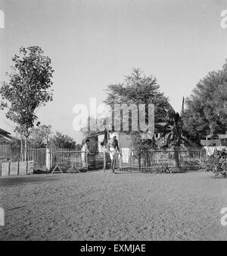
<path fill-rule="evenodd" d="M 51 134 L 51 125 L 40 125 L 39 127 L 32 128 L 28 144 L 33 148 L 45 147 Z"/>

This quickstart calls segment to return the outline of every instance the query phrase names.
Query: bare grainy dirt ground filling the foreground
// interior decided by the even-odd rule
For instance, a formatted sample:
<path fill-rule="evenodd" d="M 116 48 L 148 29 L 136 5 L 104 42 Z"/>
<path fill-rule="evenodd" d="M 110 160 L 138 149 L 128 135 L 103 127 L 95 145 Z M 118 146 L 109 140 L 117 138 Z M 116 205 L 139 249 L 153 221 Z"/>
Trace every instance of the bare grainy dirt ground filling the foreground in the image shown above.
<path fill-rule="evenodd" d="M 227 179 L 95 171 L 0 179 L 0 240 L 227 240 Z"/>

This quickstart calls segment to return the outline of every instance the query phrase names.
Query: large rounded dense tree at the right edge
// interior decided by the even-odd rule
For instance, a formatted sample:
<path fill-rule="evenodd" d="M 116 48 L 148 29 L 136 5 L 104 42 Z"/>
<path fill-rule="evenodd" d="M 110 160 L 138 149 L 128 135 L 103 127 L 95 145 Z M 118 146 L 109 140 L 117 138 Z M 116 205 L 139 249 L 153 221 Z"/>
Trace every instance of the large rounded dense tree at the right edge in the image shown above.
<path fill-rule="evenodd" d="M 201 79 L 186 99 L 182 115 L 184 129 L 197 141 L 207 134 L 213 137 L 227 130 L 227 60 L 219 71 Z"/>

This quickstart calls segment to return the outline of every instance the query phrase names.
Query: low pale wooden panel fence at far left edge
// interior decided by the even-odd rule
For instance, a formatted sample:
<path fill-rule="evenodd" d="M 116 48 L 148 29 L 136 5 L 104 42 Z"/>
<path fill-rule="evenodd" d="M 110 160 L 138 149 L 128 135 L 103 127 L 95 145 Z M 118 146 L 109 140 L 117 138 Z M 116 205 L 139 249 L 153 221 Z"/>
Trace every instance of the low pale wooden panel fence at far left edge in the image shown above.
<path fill-rule="evenodd" d="M 33 173 L 33 161 L 0 161 L 0 176 L 26 175 Z"/>

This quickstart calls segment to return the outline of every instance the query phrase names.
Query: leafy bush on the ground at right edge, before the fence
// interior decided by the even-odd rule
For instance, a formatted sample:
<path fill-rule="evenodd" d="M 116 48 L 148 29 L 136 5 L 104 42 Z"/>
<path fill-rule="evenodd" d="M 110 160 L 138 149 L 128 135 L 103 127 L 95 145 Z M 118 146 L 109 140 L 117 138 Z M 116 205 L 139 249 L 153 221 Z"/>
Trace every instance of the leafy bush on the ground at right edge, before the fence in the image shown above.
<path fill-rule="evenodd" d="M 227 174 L 227 150 L 215 150 L 213 155 L 206 161 L 200 163 L 201 169 L 207 172 L 214 172 L 216 176 L 221 174 L 226 177 Z"/>

